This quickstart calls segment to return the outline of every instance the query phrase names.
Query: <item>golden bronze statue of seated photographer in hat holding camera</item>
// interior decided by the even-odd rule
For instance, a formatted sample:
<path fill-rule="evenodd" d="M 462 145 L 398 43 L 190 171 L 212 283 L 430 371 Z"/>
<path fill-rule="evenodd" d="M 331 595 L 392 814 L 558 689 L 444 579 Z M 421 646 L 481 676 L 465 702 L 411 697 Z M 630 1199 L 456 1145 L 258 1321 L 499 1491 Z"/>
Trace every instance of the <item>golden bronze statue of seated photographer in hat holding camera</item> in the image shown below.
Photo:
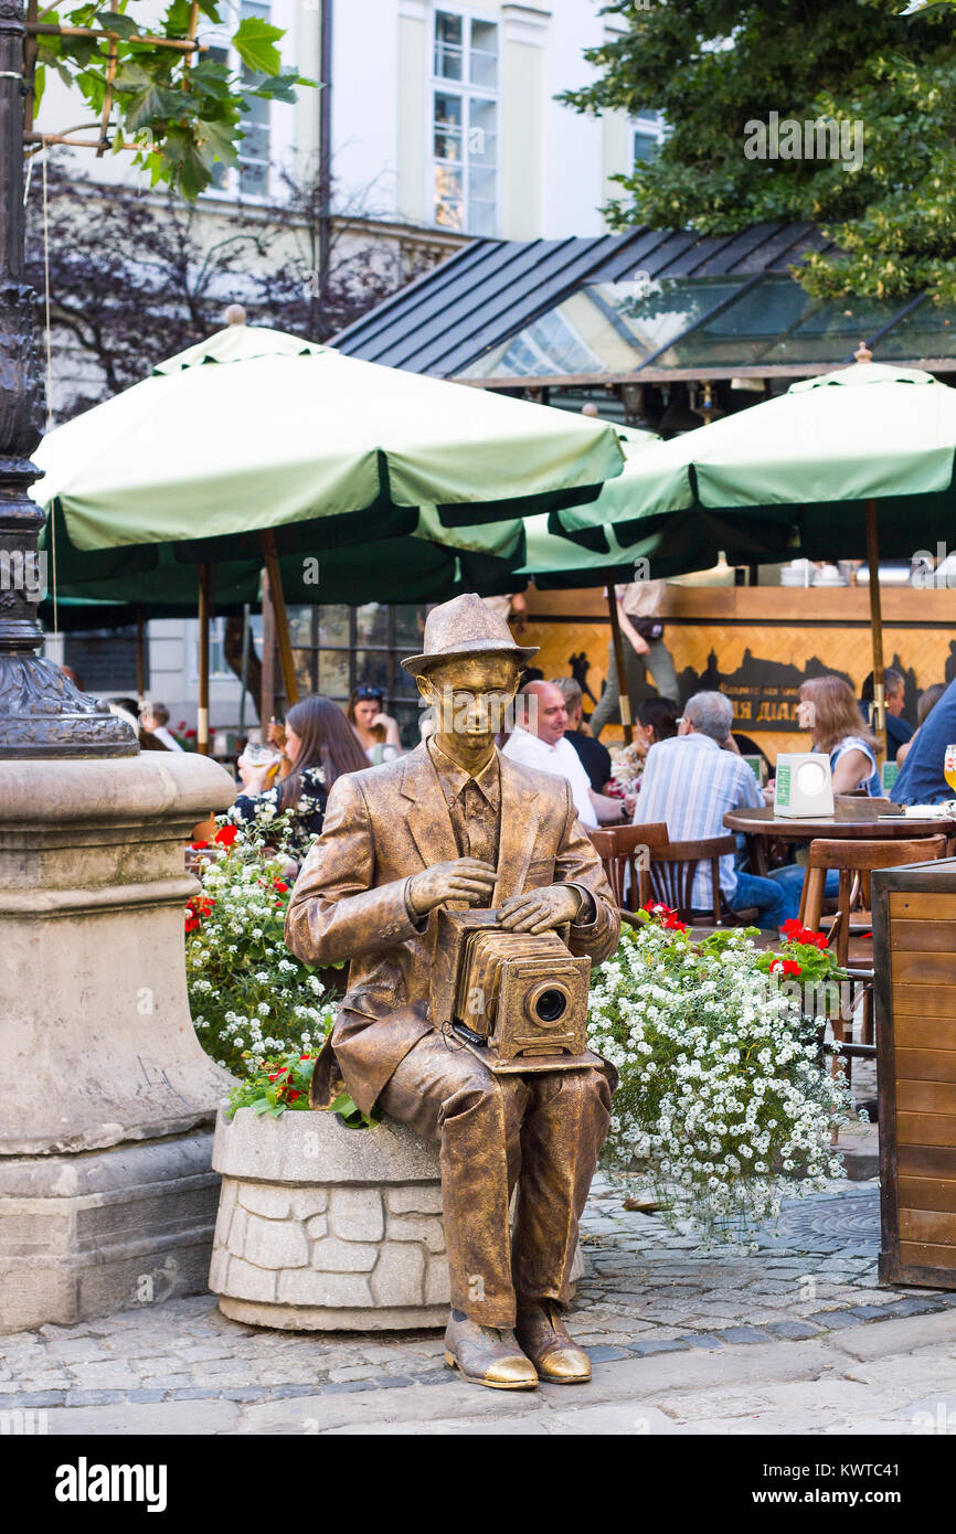
<path fill-rule="evenodd" d="M 440 1140 L 445 1358 L 499 1390 L 591 1376 L 560 1313 L 615 1086 L 585 1048 L 588 969 L 620 936 L 611 888 L 569 785 L 494 744 L 534 653 L 480 597 L 428 615 L 402 664 L 436 732 L 338 779 L 285 922 L 307 963 L 350 960 L 312 1104 L 344 1086 Z"/>

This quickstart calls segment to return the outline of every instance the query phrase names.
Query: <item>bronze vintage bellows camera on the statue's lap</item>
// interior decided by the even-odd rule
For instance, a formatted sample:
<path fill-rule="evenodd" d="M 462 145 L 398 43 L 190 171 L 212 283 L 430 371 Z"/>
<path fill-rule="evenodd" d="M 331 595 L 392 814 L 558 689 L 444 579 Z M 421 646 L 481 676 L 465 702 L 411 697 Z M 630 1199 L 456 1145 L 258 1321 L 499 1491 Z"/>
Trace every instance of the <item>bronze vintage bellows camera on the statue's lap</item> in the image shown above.
<path fill-rule="evenodd" d="M 591 960 L 560 933 L 511 933 L 500 911 L 434 913 L 428 1016 L 491 1071 L 594 1065 L 586 1048 Z"/>

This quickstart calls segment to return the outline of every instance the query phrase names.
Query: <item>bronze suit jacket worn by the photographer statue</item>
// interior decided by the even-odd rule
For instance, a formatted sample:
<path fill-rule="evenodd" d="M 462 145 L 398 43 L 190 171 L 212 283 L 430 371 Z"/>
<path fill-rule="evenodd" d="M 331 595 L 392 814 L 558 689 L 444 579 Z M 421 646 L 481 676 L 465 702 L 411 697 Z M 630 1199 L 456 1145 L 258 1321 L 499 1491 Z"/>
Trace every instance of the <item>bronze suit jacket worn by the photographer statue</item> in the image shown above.
<path fill-rule="evenodd" d="M 500 836 L 491 904 L 523 890 L 574 882 L 592 896 L 595 919 L 571 928 L 571 951 L 600 963 L 614 953 L 620 917 L 600 859 L 577 821 L 571 785 L 499 753 Z M 459 858 L 451 816 L 425 746 L 408 756 L 339 778 L 296 879 L 285 942 L 305 963 L 350 962 L 348 991 L 316 1062 L 312 1106 L 327 1108 L 342 1085 L 370 1112 L 391 1072 L 431 1028 L 431 930 L 405 908 L 405 881 Z M 466 910 L 450 900 L 450 910 Z"/>

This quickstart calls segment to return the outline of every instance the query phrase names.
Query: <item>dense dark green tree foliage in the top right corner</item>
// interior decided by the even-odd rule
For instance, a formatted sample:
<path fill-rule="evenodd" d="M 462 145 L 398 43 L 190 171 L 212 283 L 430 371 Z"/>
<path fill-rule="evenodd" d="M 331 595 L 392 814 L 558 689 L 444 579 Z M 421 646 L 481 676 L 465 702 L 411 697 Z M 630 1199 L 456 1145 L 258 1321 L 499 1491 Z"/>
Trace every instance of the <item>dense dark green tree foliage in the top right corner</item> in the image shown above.
<path fill-rule="evenodd" d="M 904 14 L 907 12 L 908 14 Z M 618 176 L 618 229 L 733 233 L 807 219 L 842 256 L 795 275 L 815 296 L 921 288 L 956 302 L 956 6 L 908 0 L 614 0 L 628 31 L 591 49 L 600 78 L 562 100 L 664 114 L 652 161 Z M 747 123 L 862 124 L 862 160 L 746 158 Z"/>

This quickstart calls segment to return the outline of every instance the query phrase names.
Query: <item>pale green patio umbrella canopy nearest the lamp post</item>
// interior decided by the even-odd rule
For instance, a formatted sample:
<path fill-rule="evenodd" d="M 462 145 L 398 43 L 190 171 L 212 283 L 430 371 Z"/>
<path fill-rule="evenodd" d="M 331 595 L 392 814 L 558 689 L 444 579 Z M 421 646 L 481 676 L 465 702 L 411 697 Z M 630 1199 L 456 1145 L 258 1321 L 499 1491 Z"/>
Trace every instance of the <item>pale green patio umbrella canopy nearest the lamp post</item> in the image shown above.
<path fill-rule="evenodd" d="M 602 422 L 288 344 L 215 362 L 236 351 L 227 330 L 58 426 L 35 499 L 78 551 L 201 538 L 206 561 L 279 528 L 307 552 L 396 537 L 422 503 L 443 526 L 506 520 L 594 497 L 623 468 Z"/>

